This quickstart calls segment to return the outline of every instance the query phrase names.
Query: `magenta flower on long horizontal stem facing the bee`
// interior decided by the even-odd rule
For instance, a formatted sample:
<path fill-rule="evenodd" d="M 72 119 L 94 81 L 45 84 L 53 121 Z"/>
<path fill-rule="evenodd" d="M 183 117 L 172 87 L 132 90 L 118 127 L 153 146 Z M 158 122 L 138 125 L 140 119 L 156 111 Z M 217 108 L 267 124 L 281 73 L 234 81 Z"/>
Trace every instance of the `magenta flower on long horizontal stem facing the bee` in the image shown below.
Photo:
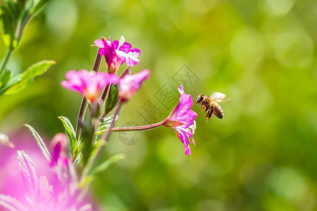
<path fill-rule="evenodd" d="M 190 155 L 189 137 L 192 138 L 196 129 L 194 119 L 197 117 L 197 113 L 190 110 L 192 108 L 192 97 L 189 94 L 185 94 L 182 85 L 180 85 L 178 91 L 180 91 L 180 103 L 175 106 L 170 115 L 164 120 L 163 125 L 175 130 L 180 141 L 184 143 L 186 155 Z M 193 138 L 192 143 L 195 145 Z"/>

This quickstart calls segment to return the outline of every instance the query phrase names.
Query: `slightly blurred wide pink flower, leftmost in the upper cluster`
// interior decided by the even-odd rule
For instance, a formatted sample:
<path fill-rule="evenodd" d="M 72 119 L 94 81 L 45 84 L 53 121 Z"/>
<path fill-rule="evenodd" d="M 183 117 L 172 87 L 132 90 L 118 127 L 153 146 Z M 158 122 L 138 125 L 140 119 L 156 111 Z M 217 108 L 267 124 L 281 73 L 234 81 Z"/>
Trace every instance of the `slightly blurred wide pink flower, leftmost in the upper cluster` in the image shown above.
<path fill-rule="evenodd" d="M 77 91 L 85 96 L 91 103 L 98 98 L 100 92 L 108 84 L 116 84 L 119 77 L 115 74 L 107 75 L 105 72 L 88 72 L 87 70 L 70 70 L 66 72 L 68 81 L 61 82 L 66 89 Z"/>

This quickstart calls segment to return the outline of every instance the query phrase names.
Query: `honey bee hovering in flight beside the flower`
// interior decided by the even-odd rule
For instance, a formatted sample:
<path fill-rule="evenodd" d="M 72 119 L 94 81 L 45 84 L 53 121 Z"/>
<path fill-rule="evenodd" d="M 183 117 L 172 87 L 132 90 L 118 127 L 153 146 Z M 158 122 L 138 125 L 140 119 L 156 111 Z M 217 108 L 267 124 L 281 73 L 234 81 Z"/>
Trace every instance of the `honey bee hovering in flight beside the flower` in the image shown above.
<path fill-rule="evenodd" d="M 201 107 L 202 110 L 205 109 L 205 113 L 207 112 L 206 120 L 208 121 L 212 114 L 220 119 L 223 118 L 223 109 L 218 103 L 225 101 L 230 101 L 230 98 L 225 98 L 225 94 L 220 92 L 213 92 L 211 96 L 199 94 L 196 103 L 199 103 L 199 107 Z"/>

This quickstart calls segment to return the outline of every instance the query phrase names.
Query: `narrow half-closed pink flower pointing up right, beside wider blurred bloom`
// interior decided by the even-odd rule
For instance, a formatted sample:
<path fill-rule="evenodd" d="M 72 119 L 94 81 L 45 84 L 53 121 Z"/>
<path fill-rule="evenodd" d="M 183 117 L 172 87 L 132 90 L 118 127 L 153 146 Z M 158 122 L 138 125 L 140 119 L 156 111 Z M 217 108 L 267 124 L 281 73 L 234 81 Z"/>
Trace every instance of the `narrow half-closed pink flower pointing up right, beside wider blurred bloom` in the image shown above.
<path fill-rule="evenodd" d="M 120 101 L 128 101 L 139 90 L 145 79 L 149 77 L 149 70 L 142 70 L 134 75 L 125 75 L 120 79 L 118 96 Z"/>

